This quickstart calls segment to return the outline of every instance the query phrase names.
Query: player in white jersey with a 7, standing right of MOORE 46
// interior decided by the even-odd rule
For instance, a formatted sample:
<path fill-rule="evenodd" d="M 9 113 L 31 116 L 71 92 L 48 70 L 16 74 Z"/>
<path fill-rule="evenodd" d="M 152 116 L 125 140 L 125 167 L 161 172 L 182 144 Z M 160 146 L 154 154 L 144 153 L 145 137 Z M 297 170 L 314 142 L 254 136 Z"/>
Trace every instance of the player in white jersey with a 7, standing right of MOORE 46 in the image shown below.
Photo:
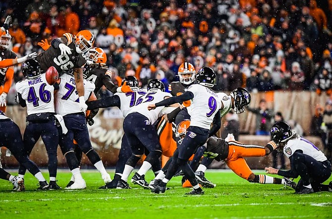
<path fill-rule="evenodd" d="M 48 49 L 50 50 L 50 49 Z M 48 51 L 47 50 L 47 51 Z M 68 129 L 64 134 L 59 131 L 59 145 L 71 173 L 74 183 L 66 189 L 83 189 L 86 183 L 80 173 L 79 163 L 74 153 L 73 140 L 75 139 L 80 149 L 86 154 L 90 162 L 101 173 L 105 183 L 111 182 L 111 176 L 106 172 L 98 153 L 92 148 L 85 114 L 81 110 L 78 92 L 75 88 L 75 78 L 71 74 L 62 74 L 57 82 L 59 89 L 55 93 L 55 112 L 63 116 L 63 121 Z M 84 80 L 84 100 L 97 99 L 93 93 L 95 84 Z"/>

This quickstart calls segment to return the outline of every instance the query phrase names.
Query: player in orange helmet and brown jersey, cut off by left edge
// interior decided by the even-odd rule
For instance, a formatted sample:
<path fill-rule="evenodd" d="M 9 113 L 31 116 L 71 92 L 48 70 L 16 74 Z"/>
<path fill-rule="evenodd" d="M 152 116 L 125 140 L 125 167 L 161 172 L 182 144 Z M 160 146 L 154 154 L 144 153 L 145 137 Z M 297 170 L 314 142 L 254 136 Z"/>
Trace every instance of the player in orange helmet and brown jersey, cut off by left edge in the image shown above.
<path fill-rule="evenodd" d="M 8 30 L 2 32 L 0 36 L 0 61 L 4 59 L 16 59 L 15 52 L 9 49 L 11 44 L 11 36 Z M 14 76 L 13 67 L 0 68 L 0 110 L 6 111 L 7 93 L 11 87 L 11 82 Z"/>

